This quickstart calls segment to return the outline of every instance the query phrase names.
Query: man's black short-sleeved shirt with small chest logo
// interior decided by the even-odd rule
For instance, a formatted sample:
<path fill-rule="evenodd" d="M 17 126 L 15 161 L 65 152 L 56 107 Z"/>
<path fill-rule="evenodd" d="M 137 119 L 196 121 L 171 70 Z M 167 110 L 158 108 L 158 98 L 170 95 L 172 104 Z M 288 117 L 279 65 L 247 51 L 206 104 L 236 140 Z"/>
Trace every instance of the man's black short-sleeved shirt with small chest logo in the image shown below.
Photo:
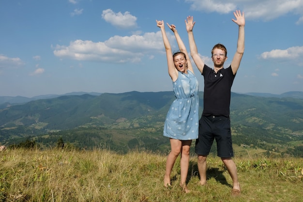
<path fill-rule="evenodd" d="M 217 73 L 207 65 L 204 65 L 204 107 L 202 115 L 229 116 L 231 86 L 236 75 L 231 66 L 222 68 Z"/>

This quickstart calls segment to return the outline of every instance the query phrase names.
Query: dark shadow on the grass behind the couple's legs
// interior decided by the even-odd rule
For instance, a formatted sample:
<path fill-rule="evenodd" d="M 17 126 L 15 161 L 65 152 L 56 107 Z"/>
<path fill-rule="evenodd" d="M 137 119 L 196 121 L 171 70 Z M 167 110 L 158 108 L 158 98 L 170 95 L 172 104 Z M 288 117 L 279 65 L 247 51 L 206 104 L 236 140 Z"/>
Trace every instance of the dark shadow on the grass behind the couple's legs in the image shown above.
<path fill-rule="evenodd" d="M 219 168 L 208 168 L 206 170 L 206 177 L 207 180 L 210 180 L 211 178 L 214 178 L 217 182 L 221 183 L 222 185 L 227 185 L 229 187 L 232 187 L 226 180 L 225 176 L 223 175 L 224 171 L 220 171 Z M 188 174 L 186 178 L 186 183 L 189 182 L 189 180 L 192 177 L 197 176 L 200 178 L 199 172 L 198 172 L 198 165 L 196 161 L 190 161 L 189 162 L 189 169 Z"/>

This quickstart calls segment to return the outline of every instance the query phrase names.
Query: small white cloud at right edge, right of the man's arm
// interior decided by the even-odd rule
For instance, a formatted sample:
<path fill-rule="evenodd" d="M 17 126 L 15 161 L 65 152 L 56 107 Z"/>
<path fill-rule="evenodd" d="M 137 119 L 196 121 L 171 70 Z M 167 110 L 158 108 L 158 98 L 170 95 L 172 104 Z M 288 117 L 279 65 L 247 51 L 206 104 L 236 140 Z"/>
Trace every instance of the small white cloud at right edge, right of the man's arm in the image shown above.
<path fill-rule="evenodd" d="M 294 46 L 285 50 L 275 49 L 269 52 L 264 52 L 261 54 L 263 59 L 271 58 L 302 58 L 303 57 L 303 46 Z"/>

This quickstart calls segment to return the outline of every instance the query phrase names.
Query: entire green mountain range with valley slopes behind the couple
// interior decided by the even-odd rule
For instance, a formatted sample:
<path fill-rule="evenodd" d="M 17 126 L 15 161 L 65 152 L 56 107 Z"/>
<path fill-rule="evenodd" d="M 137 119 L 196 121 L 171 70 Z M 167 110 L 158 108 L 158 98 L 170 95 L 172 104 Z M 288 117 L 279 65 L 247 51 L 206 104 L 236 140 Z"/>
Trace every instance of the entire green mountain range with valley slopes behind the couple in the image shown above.
<path fill-rule="evenodd" d="M 286 96 L 232 93 L 233 143 L 243 149 L 300 154 L 303 147 L 303 92 Z M 203 110 L 203 92 L 199 92 Z M 0 143 L 26 138 L 53 146 L 59 137 L 79 148 L 106 146 L 166 151 L 163 124 L 173 92 L 126 92 L 64 95 L 0 109 Z"/>

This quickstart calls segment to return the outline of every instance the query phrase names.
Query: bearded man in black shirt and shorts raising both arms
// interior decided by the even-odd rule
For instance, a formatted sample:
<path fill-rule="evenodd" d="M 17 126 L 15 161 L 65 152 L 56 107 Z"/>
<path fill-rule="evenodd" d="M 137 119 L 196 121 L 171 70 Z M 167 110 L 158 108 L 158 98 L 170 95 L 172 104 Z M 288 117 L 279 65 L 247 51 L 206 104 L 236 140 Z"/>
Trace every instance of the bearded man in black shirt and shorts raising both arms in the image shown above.
<path fill-rule="evenodd" d="M 240 195 L 240 184 L 238 181 L 237 167 L 233 157 L 229 105 L 231 86 L 244 52 L 244 13 L 234 12 L 232 19 L 239 26 L 237 51 L 228 68 L 224 68 L 227 60 L 227 50 L 224 45 L 218 43 L 212 49 L 213 69 L 204 64 L 197 52 L 197 45 L 194 40 L 193 28 L 196 22 L 193 17 L 188 16 L 186 30 L 188 32 L 191 56 L 197 65 L 198 70 L 204 77 L 204 109 L 199 120 L 199 137 L 196 141 L 195 151 L 198 155 L 198 171 L 200 184 L 206 183 L 206 158 L 211 149 L 213 140 L 216 139 L 218 157 L 227 167 L 228 173 L 233 181 L 232 195 Z"/>

